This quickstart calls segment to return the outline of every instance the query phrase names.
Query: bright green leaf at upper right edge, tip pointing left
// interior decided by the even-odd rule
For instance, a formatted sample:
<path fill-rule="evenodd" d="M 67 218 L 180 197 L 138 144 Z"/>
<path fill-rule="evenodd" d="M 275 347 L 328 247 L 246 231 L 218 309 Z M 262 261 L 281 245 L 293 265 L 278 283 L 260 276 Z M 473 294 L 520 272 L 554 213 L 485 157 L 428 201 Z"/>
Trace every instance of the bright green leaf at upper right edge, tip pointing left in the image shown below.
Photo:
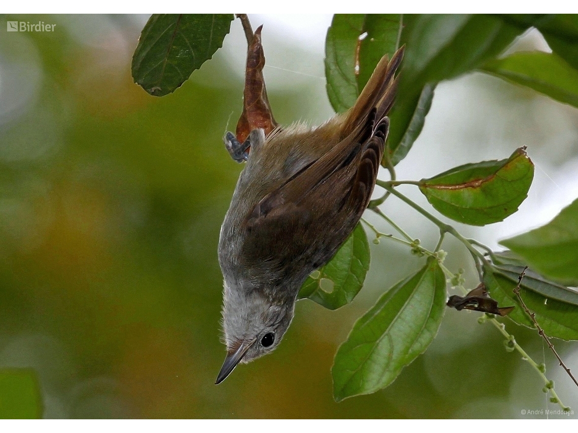
<path fill-rule="evenodd" d="M 480 69 L 578 107 L 578 70 L 556 54 L 528 51 L 487 62 Z"/>

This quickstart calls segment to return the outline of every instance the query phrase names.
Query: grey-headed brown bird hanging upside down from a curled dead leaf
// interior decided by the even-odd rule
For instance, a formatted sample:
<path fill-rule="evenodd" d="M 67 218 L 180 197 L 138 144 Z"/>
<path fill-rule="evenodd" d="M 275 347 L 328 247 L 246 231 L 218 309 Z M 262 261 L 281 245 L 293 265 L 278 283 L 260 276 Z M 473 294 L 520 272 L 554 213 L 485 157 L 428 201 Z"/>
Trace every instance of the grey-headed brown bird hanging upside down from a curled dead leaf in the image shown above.
<path fill-rule="evenodd" d="M 279 345 L 303 282 L 360 221 L 383 158 L 402 58 L 403 47 L 384 55 L 354 105 L 323 125 L 297 122 L 267 135 L 255 128 L 244 143 L 225 135 L 231 155 L 246 165 L 218 242 L 227 355 L 216 384 Z"/>

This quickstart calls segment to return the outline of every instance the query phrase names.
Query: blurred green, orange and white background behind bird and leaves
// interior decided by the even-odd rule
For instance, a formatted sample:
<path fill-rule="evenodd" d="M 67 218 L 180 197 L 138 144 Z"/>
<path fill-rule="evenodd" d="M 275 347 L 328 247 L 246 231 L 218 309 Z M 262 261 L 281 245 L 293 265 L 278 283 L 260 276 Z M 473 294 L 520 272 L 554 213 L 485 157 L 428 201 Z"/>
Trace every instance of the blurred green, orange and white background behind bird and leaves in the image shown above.
<path fill-rule="evenodd" d="M 323 44 L 331 16 L 249 17 L 253 27 L 265 24 L 277 121 L 327 120 Z M 385 240 L 372 244 L 368 279 L 353 303 L 331 312 L 300 301 L 279 349 L 213 385 L 225 355 L 218 233 L 242 170 L 222 137 L 242 108 L 246 42 L 234 21 L 211 61 L 175 94 L 154 98 L 130 74 L 147 18 L 0 17 L 0 369 L 38 375 L 44 417 L 545 418 L 521 411 L 559 408 L 531 367 L 504 350 L 501 335 L 476 322 L 479 313 L 454 310 L 392 386 L 336 404 L 330 368 L 339 344 L 380 293 L 423 264 Z M 55 31 L 6 32 L 9 20 L 45 21 Z M 512 49 L 536 48 L 548 49 L 534 31 Z M 520 211 L 488 227 L 454 223 L 497 247 L 578 196 L 577 143 L 578 110 L 473 73 L 439 85 L 398 177 L 506 158 L 528 145 L 536 178 Z M 407 193 L 427 206 L 417 191 Z M 435 227 L 415 212 L 395 199 L 383 209 L 435 245 Z M 451 240 L 444 249 L 447 266 L 466 268 L 473 288 L 468 255 Z M 570 417 L 578 417 L 578 390 L 539 336 L 506 324 L 546 362 Z M 555 344 L 578 371 L 576 343 Z"/>

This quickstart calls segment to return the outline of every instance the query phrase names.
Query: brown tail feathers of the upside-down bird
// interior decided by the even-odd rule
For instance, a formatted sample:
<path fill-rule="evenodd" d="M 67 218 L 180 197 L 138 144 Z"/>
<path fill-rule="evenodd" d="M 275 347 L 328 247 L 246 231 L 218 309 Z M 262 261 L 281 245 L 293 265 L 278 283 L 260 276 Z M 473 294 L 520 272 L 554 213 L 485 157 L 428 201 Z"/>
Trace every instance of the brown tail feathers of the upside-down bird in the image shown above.
<path fill-rule="evenodd" d="M 361 124 L 365 124 L 372 109 L 376 109 L 376 124 L 390 111 L 398 87 L 398 78 L 394 75 L 401 64 L 403 49 L 404 47 L 401 47 L 395 51 L 391 60 L 387 54 L 381 57 L 354 106 L 346 113 L 342 138 L 349 136 Z"/>

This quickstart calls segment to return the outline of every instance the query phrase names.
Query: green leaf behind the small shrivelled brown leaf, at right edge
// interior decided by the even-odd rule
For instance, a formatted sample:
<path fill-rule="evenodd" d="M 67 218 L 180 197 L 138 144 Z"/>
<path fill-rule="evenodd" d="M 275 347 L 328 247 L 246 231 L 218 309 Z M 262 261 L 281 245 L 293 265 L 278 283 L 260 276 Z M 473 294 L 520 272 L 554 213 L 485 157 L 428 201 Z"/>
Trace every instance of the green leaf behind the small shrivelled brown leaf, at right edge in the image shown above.
<path fill-rule="evenodd" d="M 521 271 L 521 269 L 520 269 Z M 484 285 L 490 296 L 498 301 L 500 307 L 515 305 L 516 308 L 507 315 L 518 324 L 533 328 L 533 323 L 518 303 L 513 290 L 516 288 L 519 274 L 508 274 L 497 268 L 484 267 Z M 561 338 L 566 341 L 578 339 L 578 308 L 554 298 L 542 296 L 542 294 L 529 289 L 536 281 L 524 277 L 520 286 L 520 296 L 528 309 L 535 313 L 536 322 L 542 327 L 549 337 Z M 538 283 L 544 285 L 543 281 Z M 535 286 L 534 286 L 535 288 Z"/>

